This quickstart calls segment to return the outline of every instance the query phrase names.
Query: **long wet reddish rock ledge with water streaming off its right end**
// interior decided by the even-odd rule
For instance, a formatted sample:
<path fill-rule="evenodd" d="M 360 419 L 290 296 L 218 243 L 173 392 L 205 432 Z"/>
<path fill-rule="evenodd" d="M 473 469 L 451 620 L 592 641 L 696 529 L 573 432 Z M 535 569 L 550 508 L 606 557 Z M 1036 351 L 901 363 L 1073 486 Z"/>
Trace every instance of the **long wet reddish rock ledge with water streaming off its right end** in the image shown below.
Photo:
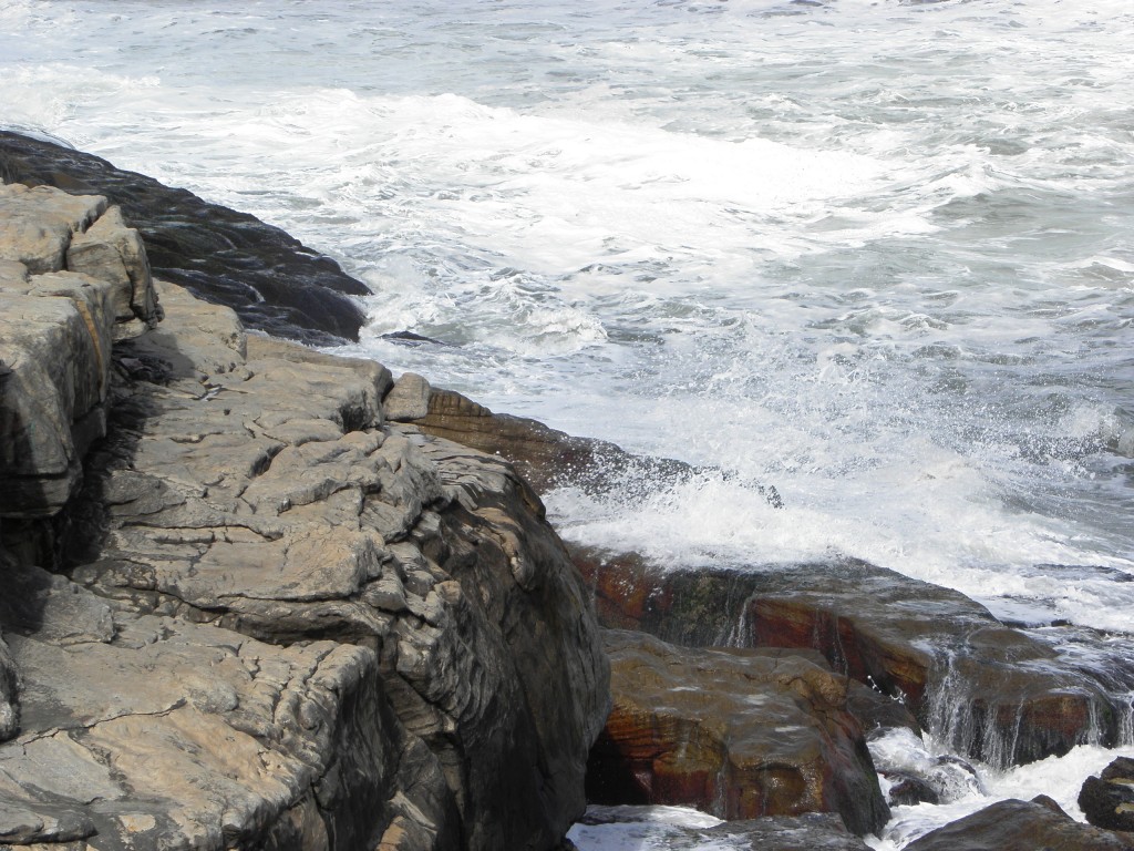
<path fill-rule="evenodd" d="M 686 647 L 815 649 L 996 766 L 1118 735 L 1120 697 L 1090 672 L 956 591 L 865 562 L 662 570 L 576 548 L 575 563 L 606 626 Z"/>

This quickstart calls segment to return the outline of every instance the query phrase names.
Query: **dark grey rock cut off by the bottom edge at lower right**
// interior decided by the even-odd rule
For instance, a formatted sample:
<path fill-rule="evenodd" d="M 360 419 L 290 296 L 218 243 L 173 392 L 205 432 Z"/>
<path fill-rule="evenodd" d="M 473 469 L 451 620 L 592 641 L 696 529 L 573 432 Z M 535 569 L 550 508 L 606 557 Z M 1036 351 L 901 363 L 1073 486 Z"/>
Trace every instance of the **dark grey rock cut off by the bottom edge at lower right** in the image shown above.
<path fill-rule="evenodd" d="M 1046 798 L 1009 799 L 939 827 L 905 851 L 1131 851 L 1127 839 L 1080 824 Z"/>

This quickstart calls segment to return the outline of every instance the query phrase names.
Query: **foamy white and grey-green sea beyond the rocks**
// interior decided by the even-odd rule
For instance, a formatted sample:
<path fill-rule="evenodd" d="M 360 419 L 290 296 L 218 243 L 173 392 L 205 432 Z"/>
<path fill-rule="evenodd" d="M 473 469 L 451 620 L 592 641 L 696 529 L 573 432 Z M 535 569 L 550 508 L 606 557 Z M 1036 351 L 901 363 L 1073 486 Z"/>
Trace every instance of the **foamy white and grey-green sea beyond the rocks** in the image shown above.
<path fill-rule="evenodd" d="M 1129 658 L 1131 33 L 1126 0 L 0 0 L 0 125 L 335 256 L 353 354 L 711 469 L 556 491 L 565 537 L 848 554 Z"/>

